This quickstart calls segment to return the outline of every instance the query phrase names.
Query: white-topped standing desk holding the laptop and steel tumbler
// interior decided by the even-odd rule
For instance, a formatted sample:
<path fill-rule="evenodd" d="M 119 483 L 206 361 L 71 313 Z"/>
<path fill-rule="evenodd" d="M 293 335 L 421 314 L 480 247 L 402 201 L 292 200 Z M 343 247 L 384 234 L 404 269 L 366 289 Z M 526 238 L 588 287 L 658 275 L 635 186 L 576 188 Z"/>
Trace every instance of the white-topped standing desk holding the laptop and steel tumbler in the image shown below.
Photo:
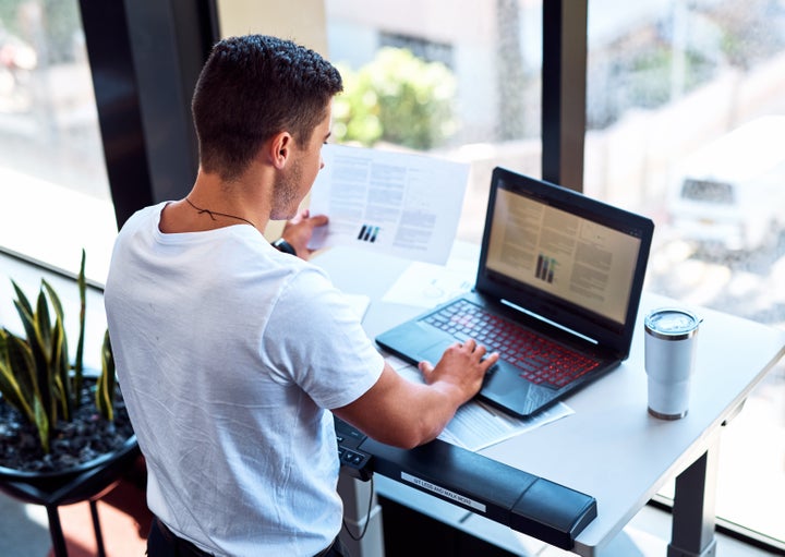
<path fill-rule="evenodd" d="M 450 257 L 476 259 L 479 249 L 456 244 Z M 363 319 L 375 335 L 423 310 L 383 301 L 410 262 L 334 247 L 314 257 L 346 293 L 366 294 Z M 467 277 L 473 282 L 473 277 Z M 714 555 L 714 498 L 722 426 L 785 353 L 785 331 L 703 307 L 690 307 L 703 322 L 697 336 L 696 372 L 689 412 L 677 421 L 647 412 L 643 367 L 643 316 L 677 301 L 643 294 L 630 356 L 620 367 L 565 399 L 575 414 L 493 445 L 481 455 L 589 494 L 597 517 L 577 536 L 571 549 L 602 556 L 614 537 L 669 480 L 676 477 L 673 533 L 668 557 Z M 435 362 L 434 362 L 435 363 Z M 385 487 L 386 486 L 386 487 Z M 346 491 L 346 484 L 342 484 Z M 395 492 L 385 481 L 381 494 Z M 343 494 L 348 507 L 360 500 Z M 428 496 L 412 497 L 415 510 Z"/>

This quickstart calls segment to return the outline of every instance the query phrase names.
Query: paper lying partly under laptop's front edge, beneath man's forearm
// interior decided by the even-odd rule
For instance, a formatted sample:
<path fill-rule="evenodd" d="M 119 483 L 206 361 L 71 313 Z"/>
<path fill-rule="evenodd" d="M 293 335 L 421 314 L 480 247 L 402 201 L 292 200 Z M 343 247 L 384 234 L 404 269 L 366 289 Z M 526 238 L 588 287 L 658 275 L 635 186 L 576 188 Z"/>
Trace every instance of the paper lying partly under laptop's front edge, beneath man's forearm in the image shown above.
<path fill-rule="evenodd" d="M 407 379 L 424 383 L 420 371 L 415 366 L 394 355 L 386 356 L 386 360 L 394 370 Z M 438 438 L 471 451 L 479 451 L 570 414 L 575 414 L 575 410 L 564 402 L 557 402 L 531 417 L 519 419 L 505 414 L 482 402 L 470 401 L 458 409 L 458 412 L 456 412 L 456 415 Z"/>

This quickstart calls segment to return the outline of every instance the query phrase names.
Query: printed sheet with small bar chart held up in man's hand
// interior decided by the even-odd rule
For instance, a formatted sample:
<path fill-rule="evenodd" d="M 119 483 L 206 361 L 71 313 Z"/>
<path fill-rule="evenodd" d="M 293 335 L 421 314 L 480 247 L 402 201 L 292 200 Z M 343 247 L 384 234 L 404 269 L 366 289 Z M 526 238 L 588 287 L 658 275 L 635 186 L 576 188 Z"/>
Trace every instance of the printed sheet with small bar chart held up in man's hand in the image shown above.
<path fill-rule="evenodd" d="M 449 256 L 469 165 L 424 155 L 328 144 L 311 190 L 312 214 L 329 223 L 311 249 L 353 245 L 413 261 Z"/>

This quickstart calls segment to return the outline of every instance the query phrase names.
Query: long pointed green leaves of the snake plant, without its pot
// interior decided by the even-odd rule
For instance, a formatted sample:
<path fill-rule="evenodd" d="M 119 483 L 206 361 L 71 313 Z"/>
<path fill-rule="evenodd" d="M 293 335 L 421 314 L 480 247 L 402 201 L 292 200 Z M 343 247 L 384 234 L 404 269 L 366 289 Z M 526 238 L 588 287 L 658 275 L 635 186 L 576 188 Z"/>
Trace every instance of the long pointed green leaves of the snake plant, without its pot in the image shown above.
<path fill-rule="evenodd" d="M 0 330 L 0 395 L 35 424 L 45 452 L 59 420 L 70 421 L 78 408 L 83 388 L 83 347 L 85 329 L 85 253 L 77 279 L 80 291 L 80 334 L 73 365 L 69 361 L 62 304 L 55 289 L 41 280 L 33 306 L 12 280 L 14 305 L 22 319 L 25 338 Z M 101 416 L 112 420 L 114 363 L 108 331 L 101 350 L 102 370 L 98 377 L 96 405 Z"/>

